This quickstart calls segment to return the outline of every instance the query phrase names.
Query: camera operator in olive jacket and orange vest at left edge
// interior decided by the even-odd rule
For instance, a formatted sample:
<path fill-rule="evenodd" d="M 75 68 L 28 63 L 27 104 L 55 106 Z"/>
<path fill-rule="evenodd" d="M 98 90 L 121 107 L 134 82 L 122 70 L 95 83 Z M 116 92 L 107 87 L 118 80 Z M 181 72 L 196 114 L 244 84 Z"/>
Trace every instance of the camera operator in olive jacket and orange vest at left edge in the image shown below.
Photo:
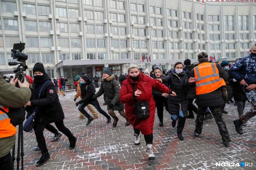
<path fill-rule="evenodd" d="M 17 83 L 20 88 L 15 87 Z M 14 169 L 10 151 L 15 144 L 17 130 L 10 123 L 5 112 L 9 112 L 9 107 L 23 107 L 30 97 L 31 90 L 26 79 L 24 79 L 24 83 L 17 78 L 11 79 L 10 83 L 7 83 L 0 75 L 0 170 Z"/>

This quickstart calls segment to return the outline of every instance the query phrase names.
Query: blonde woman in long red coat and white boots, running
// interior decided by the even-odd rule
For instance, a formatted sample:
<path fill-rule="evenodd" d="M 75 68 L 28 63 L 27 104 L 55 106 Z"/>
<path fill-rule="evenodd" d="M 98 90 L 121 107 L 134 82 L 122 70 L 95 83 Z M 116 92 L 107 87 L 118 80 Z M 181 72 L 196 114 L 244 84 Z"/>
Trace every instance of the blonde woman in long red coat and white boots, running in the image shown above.
<path fill-rule="evenodd" d="M 133 91 L 132 84 L 135 85 L 136 91 Z M 127 79 L 123 81 L 121 86 L 120 101 L 125 104 L 127 119 L 130 124 L 133 125 L 135 145 L 140 144 L 140 132 L 144 135 L 149 160 L 155 159 L 152 152 L 152 143 L 156 106 L 152 97 L 152 88 L 163 93 L 176 95 L 164 84 L 140 73 L 137 65 L 131 64 L 128 67 Z M 135 115 L 134 99 L 137 99 L 137 101 L 147 101 L 149 103 L 149 118 L 144 120 L 137 119 Z"/>

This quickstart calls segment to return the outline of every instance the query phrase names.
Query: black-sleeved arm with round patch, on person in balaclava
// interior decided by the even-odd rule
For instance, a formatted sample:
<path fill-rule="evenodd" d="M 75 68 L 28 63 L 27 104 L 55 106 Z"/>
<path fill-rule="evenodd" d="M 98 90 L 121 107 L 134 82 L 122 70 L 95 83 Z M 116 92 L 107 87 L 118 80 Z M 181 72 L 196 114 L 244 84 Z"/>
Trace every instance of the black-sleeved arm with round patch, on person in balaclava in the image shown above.
<path fill-rule="evenodd" d="M 49 82 L 45 88 L 46 97 L 38 100 L 30 100 L 33 106 L 47 106 L 51 105 L 56 100 L 56 91 L 52 82 Z"/>

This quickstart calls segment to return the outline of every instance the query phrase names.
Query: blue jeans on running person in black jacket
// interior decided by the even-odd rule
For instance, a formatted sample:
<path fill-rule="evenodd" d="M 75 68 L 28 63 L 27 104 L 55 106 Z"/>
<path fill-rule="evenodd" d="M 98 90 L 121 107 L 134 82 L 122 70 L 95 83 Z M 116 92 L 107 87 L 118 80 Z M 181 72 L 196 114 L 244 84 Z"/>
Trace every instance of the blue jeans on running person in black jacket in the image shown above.
<path fill-rule="evenodd" d="M 78 110 L 80 112 L 82 112 L 85 115 L 85 117 L 87 117 L 88 119 L 90 119 L 92 117 L 84 109 L 88 104 L 93 105 L 97 109 L 97 111 L 100 112 L 101 114 L 103 114 L 103 116 L 105 116 L 107 119 L 111 119 L 111 117 L 104 110 L 102 110 L 97 99 L 92 100 L 92 101 L 85 101 L 85 102 L 81 103 L 78 107 Z"/>

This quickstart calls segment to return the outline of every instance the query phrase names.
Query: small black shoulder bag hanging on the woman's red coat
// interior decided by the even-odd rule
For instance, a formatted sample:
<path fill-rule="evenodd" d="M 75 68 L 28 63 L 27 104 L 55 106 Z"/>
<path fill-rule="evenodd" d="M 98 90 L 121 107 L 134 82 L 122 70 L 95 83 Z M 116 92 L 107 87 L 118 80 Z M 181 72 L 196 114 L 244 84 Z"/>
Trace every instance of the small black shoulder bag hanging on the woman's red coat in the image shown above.
<path fill-rule="evenodd" d="M 132 84 L 133 93 L 136 91 L 135 85 Z M 137 119 L 144 120 L 149 117 L 149 104 L 147 101 L 137 101 L 137 98 L 134 99 L 134 108 Z"/>

